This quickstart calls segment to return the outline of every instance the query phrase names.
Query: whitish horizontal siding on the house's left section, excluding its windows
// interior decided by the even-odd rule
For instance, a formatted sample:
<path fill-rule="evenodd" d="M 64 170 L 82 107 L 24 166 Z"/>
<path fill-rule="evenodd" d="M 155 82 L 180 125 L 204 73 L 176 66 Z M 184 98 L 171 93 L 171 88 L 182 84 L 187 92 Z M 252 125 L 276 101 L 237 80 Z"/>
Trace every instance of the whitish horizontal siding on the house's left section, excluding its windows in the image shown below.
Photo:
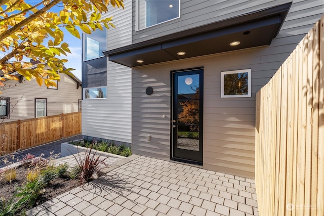
<path fill-rule="evenodd" d="M 116 28 L 107 30 L 107 49 L 127 46 L 132 41 L 132 3 L 125 10 L 111 9 L 103 17 L 113 16 Z M 105 140 L 131 143 L 132 120 L 131 69 L 107 61 L 107 99 L 83 100 L 82 134 Z"/>

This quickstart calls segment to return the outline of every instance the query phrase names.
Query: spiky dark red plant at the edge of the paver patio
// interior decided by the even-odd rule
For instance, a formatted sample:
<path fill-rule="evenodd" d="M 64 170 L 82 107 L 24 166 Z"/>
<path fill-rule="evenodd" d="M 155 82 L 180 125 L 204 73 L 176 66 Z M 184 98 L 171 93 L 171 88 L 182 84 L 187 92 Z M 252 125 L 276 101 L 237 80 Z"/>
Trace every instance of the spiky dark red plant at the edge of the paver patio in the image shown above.
<path fill-rule="evenodd" d="M 80 179 L 80 185 L 84 184 L 85 182 L 89 182 L 92 179 L 92 176 L 96 173 L 97 176 L 100 176 L 101 172 L 101 165 L 104 165 L 107 167 L 107 164 L 104 162 L 107 158 L 103 158 L 100 159 L 100 155 L 96 155 L 95 153 L 91 153 L 92 149 L 94 146 L 94 141 L 90 147 L 90 150 L 88 151 L 88 149 L 85 151 L 85 157 L 82 158 L 82 156 L 78 156 L 78 159 L 75 157 L 75 155 L 73 155 L 73 157 L 75 158 L 78 166 L 80 167 L 80 175 L 79 175 L 79 179 Z"/>

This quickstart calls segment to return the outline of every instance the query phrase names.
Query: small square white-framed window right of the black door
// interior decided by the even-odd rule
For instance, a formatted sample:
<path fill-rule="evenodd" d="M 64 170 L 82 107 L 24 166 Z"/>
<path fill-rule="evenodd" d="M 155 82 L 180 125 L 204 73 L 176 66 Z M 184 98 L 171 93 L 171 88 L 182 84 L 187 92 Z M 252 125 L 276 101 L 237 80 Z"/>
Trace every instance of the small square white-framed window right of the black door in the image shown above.
<path fill-rule="evenodd" d="M 221 72 L 221 97 L 251 97 L 251 69 Z"/>

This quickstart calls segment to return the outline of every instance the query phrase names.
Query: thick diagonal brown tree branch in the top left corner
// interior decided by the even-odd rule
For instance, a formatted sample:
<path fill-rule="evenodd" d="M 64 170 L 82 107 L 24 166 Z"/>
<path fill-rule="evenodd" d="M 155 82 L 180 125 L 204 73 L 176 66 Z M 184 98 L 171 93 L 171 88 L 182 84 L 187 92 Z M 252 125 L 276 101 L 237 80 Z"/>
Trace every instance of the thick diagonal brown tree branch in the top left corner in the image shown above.
<path fill-rule="evenodd" d="M 36 19 L 37 17 L 39 17 L 42 14 L 44 14 L 45 12 L 47 12 L 49 9 L 51 9 L 56 4 L 58 4 L 60 1 L 61 0 L 53 0 L 50 4 L 48 4 L 47 6 L 45 6 L 44 8 L 42 8 L 41 10 L 39 10 L 36 13 L 30 15 L 29 17 L 27 17 L 26 19 L 22 20 L 17 25 L 13 26 L 12 28 L 10 28 L 7 31 L 5 31 L 4 33 L 0 34 L 0 40 L 3 40 L 5 38 L 9 37 L 10 35 L 14 34 L 14 32 L 16 32 L 17 30 L 20 30 L 23 26 L 27 25 L 32 20 Z"/>

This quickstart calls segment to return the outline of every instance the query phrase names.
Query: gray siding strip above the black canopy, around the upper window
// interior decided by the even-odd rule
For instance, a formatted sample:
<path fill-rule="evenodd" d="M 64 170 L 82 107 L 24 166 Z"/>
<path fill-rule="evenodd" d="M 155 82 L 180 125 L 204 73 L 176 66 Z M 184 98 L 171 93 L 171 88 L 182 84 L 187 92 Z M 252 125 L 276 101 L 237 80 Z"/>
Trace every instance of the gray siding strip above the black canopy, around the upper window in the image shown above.
<path fill-rule="evenodd" d="M 181 1 L 180 18 L 135 31 L 135 0 L 133 0 L 133 44 L 147 39 L 231 18 L 290 1 Z"/>

